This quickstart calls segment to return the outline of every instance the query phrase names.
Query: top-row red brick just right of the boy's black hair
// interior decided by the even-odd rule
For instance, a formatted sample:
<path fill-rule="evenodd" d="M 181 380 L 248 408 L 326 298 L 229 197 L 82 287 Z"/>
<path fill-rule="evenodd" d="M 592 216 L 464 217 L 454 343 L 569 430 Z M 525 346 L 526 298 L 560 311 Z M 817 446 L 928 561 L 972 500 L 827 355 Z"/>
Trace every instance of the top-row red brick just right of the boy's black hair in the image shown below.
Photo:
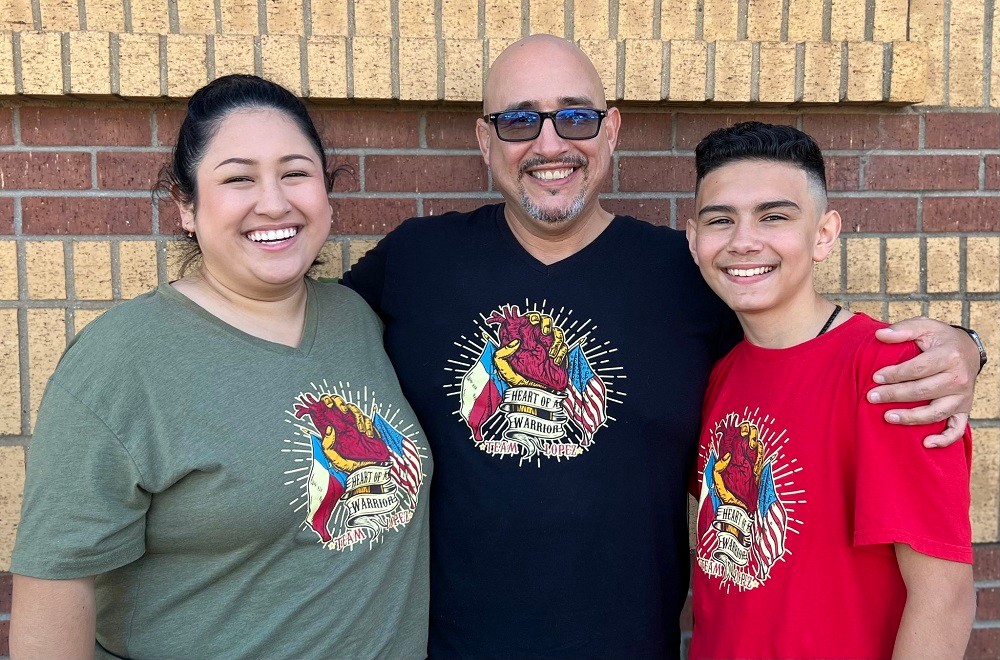
<path fill-rule="evenodd" d="M 802 130 L 820 149 L 916 149 L 917 115 L 802 115 Z"/>

